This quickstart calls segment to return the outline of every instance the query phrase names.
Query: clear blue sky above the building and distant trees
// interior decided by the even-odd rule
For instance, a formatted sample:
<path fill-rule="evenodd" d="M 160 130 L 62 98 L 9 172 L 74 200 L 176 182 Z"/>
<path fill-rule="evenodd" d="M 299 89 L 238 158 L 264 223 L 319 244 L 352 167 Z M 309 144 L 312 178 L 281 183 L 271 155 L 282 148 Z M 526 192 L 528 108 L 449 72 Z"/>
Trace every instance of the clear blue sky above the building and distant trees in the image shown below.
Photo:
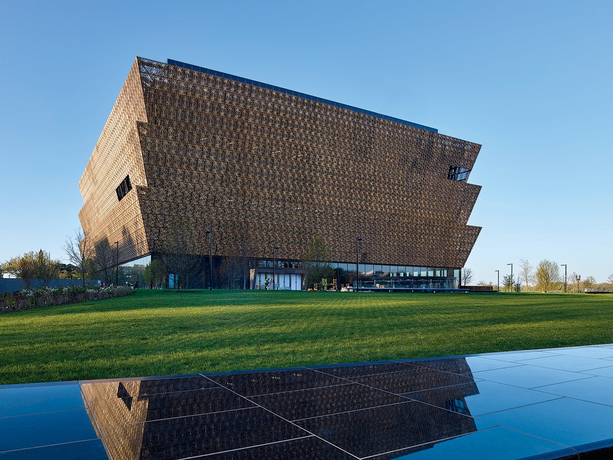
<path fill-rule="evenodd" d="M 482 144 L 466 266 L 613 273 L 610 1 L 4 2 L 0 259 L 61 256 L 135 56 L 186 61 Z M 63 255 L 62 255 L 63 256 Z"/>

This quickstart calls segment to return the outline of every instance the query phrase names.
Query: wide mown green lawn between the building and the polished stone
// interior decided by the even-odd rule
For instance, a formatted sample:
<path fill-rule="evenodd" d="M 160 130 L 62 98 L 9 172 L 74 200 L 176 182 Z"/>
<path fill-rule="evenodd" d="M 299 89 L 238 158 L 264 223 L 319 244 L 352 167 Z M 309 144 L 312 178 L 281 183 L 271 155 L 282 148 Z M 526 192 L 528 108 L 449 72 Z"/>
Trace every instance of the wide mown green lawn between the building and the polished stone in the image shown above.
<path fill-rule="evenodd" d="M 0 384 L 613 342 L 613 294 L 137 291 L 0 314 Z"/>

